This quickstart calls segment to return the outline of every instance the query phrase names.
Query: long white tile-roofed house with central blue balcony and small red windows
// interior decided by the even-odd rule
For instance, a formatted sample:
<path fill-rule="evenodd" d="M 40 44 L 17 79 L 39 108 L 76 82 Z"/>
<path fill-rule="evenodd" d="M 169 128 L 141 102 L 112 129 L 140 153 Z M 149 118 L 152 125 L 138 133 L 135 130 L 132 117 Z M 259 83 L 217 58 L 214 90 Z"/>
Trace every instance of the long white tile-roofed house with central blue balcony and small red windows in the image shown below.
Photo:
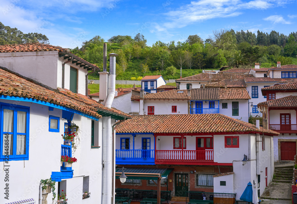
<path fill-rule="evenodd" d="M 132 112 L 140 115 L 221 113 L 248 122 L 247 100 L 251 98 L 245 88 L 199 88 L 140 95 L 131 97 Z"/>

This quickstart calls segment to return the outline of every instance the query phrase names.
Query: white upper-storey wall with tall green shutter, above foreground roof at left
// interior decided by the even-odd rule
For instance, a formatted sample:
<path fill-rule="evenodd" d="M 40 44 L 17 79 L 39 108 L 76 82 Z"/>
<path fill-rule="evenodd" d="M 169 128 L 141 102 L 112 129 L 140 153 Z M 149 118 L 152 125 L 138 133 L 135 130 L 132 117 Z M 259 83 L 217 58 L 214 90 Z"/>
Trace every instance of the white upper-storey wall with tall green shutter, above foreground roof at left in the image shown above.
<path fill-rule="evenodd" d="M 59 58 L 58 51 L 0 53 L 0 66 L 53 89 L 62 87 L 62 62 L 65 61 Z M 88 72 L 72 63 L 65 64 L 65 88 L 69 89 L 70 85 L 70 65 L 79 69 L 78 93 L 85 95 L 85 75 Z"/>

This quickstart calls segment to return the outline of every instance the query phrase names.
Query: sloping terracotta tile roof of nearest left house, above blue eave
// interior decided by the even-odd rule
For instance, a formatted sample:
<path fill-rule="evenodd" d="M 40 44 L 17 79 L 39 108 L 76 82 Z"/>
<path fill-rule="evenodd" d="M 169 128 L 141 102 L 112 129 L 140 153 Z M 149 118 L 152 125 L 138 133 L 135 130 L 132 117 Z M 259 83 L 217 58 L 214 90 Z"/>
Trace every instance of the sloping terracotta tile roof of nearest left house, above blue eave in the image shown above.
<path fill-rule="evenodd" d="M 97 108 L 129 117 L 124 112 L 108 109 L 85 95 L 75 94 L 61 88 L 49 90 L 3 69 L 0 69 L 0 95 L 32 98 L 74 109 L 97 118 L 102 117 L 97 113 Z"/>

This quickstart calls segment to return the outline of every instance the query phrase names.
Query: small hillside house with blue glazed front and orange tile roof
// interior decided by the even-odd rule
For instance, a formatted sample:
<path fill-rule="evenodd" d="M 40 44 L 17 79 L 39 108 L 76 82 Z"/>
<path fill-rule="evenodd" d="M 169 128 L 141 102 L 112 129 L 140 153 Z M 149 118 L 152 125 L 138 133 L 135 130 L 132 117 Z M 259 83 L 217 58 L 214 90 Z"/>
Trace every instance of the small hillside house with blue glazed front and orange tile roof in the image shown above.
<path fill-rule="evenodd" d="M 141 89 L 147 93 L 157 93 L 157 87 L 166 85 L 162 75 L 145 76 L 141 79 Z"/>

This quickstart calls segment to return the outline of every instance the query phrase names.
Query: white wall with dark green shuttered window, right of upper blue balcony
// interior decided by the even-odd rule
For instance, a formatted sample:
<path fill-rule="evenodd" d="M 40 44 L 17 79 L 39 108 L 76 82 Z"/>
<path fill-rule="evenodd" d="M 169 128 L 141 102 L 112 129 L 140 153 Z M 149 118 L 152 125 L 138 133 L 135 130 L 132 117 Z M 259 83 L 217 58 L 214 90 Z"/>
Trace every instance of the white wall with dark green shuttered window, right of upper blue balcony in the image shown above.
<path fill-rule="evenodd" d="M 232 116 L 232 101 L 238 101 L 238 116 Z M 223 114 L 235 119 L 240 119 L 244 122 L 249 121 L 248 100 L 220 100 L 219 103 L 220 103 L 219 104 L 220 114 Z M 227 109 L 222 109 L 222 103 L 228 103 Z"/>

